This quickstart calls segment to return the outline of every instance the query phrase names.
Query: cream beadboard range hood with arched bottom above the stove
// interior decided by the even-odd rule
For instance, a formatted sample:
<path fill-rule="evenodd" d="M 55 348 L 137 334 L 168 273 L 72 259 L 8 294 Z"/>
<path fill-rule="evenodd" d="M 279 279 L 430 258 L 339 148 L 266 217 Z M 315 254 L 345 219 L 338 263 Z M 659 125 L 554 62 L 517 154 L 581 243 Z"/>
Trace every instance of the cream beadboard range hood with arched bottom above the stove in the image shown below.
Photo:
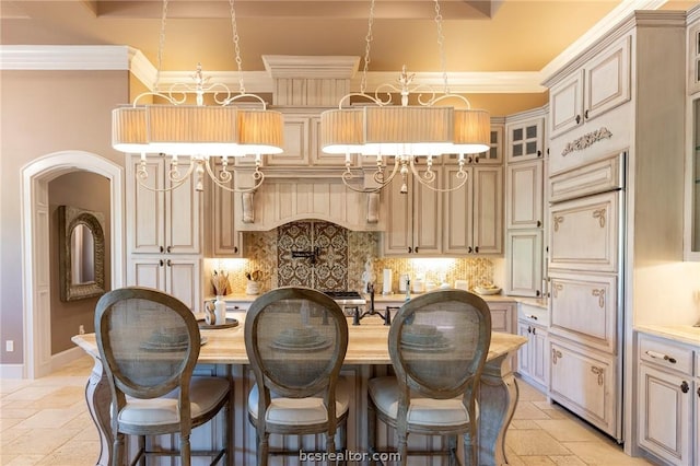
<path fill-rule="evenodd" d="M 378 193 L 348 189 L 338 170 L 290 172 L 266 168 L 262 185 L 241 195 L 235 205 L 238 231 L 269 231 L 300 220 L 323 220 L 352 231 L 384 230 Z"/>

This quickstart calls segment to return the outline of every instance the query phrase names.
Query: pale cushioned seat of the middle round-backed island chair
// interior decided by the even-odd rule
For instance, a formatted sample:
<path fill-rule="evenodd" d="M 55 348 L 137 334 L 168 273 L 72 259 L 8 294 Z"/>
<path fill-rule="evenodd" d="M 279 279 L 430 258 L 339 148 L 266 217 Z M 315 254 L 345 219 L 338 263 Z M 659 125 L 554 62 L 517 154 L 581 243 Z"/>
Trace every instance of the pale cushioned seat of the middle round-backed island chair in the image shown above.
<path fill-rule="evenodd" d="M 338 378 L 336 385 L 336 418 L 342 418 L 350 405 L 349 382 Z M 248 395 L 248 413 L 253 419 L 258 418 L 258 386 L 255 384 Z M 270 407 L 266 420 L 272 424 L 312 426 L 328 421 L 323 396 L 308 398 L 285 398 L 271 394 Z"/>

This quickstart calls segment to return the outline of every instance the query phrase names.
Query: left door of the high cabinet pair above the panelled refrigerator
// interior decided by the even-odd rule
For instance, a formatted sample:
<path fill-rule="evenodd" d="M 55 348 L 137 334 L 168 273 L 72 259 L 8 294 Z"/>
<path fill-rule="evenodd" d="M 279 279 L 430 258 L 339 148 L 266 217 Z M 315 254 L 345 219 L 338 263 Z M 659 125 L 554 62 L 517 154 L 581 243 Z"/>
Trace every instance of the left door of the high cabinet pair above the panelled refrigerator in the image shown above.
<path fill-rule="evenodd" d="M 551 138 L 583 124 L 583 70 L 549 90 L 549 136 Z"/>

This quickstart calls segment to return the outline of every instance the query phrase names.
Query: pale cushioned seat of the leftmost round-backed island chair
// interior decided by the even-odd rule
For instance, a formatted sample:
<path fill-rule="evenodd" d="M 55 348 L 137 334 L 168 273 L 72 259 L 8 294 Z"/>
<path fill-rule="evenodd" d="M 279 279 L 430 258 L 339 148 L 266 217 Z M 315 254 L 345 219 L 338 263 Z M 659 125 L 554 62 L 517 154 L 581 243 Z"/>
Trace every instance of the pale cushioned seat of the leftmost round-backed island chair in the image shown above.
<path fill-rule="evenodd" d="M 179 429 L 178 389 L 152 399 L 127 397 L 127 405 L 119 412 L 119 423 L 142 428 L 173 424 Z M 210 412 L 229 396 L 229 381 L 223 377 L 192 377 L 189 388 L 191 418 Z"/>

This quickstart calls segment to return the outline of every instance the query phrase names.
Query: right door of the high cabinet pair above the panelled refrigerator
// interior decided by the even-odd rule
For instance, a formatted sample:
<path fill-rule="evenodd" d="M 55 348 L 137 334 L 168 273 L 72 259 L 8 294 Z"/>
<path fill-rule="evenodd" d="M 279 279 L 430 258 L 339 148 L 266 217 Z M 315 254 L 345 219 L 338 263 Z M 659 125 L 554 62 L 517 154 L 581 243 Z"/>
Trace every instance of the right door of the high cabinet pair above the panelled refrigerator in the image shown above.
<path fill-rule="evenodd" d="M 583 116 L 591 120 L 630 100 L 631 37 L 622 37 L 585 67 Z"/>

